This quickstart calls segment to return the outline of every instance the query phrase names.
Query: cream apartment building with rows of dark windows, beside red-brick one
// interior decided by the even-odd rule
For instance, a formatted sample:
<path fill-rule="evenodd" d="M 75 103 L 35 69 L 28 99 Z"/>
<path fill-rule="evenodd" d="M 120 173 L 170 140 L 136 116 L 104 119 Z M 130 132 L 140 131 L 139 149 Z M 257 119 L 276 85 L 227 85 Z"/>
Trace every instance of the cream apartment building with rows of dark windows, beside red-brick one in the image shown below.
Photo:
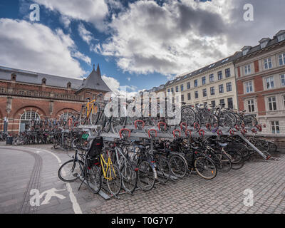
<path fill-rule="evenodd" d="M 228 108 L 237 109 L 235 58 L 236 54 L 197 71 L 177 76 L 165 84 L 165 91 L 173 94 L 173 102 L 176 100 L 188 105 L 207 103 L 214 106 L 223 103 Z"/>

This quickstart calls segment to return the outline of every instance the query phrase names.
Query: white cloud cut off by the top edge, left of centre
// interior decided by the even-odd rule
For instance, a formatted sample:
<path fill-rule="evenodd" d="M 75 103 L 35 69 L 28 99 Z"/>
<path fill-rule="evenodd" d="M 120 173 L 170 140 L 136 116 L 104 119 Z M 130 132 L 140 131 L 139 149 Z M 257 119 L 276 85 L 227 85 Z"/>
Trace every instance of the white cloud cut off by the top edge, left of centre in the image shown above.
<path fill-rule="evenodd" d="M 33 0 L 51 11 L 58 11 L 71 19 L 92 23 L 96 28 L 104 28 L 103 21 L 108 15 L 108 5 L 103 0 Z"/>

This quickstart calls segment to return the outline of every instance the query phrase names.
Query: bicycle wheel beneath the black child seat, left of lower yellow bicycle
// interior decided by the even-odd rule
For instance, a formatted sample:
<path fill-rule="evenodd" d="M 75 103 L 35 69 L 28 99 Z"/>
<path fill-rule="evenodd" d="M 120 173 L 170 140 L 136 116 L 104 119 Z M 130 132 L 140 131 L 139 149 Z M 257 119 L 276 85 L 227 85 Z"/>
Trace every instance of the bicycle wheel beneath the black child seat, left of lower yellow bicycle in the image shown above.
<path fill-rule="evenodd" d="M 85 176 L 89 190 L 95 194 L 100 192 L 102 184 L 100 169 L 93 165 L 92 167 L 86 169 Z"/>

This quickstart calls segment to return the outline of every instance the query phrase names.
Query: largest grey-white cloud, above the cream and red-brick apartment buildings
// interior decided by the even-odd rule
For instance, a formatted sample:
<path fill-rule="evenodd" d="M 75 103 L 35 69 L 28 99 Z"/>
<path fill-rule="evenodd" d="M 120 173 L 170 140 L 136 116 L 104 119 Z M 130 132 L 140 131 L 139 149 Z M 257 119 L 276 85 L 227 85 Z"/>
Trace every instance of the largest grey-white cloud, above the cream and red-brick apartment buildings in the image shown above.
<path fill-rule="evenodd" d="M 285 1 L 273 1 L 278 4 L 258 0 L 135 1 L 113 15 L 108 24 L 110 38 L 93 51 L 115 58 L 123 71 L 157 72 L 170 78 L 219 61 L 244 45 L 257 45 L 260 38 L 284 29 L 281 11 Z M 254 5 L 254 22 L 243 20 L 245 3 Z M 268 18 L 274 19 L 274 26 Z M 268 29 L 264 31 L 264 27 Z"/>

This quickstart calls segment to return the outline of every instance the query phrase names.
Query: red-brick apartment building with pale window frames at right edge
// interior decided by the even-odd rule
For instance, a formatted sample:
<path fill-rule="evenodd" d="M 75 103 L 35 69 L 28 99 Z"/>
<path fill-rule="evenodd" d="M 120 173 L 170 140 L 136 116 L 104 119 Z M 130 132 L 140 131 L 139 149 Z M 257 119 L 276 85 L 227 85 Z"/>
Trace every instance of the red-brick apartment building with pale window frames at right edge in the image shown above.
<path fill-rule="evenodd" d="M 265 123 L 262 133 L 285 134 L 285 30 L 244 46 L 234 60 L 239 110 Z"/>

